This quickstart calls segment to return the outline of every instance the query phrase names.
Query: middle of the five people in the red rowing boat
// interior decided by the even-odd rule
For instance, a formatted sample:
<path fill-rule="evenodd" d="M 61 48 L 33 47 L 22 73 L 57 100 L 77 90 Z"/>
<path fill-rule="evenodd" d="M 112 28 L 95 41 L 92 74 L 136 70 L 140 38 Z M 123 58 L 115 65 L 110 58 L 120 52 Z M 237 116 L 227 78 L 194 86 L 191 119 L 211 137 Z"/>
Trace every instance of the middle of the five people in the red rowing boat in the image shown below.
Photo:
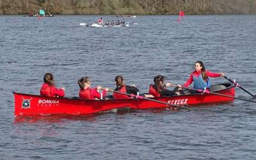
<path fill-rule="evenodd" d="M 122 93 L 134 94 L 134 95 L 137 95 L 137 93 L 140 92 L 140 90 L 138 90 L 138 88 L 136 88 L 134 85 L 132 86 L 125 85 L 124 79 L 122 76 L 116 76 L 115 82 L 116 82 L 116 88 L 115 88 L 116 92 L 122 92 Z M 131 98 L 127 95 L 122 95 L 115 92 L 113 93 L 113 97 L 114 99 L 130 99 Z"/>

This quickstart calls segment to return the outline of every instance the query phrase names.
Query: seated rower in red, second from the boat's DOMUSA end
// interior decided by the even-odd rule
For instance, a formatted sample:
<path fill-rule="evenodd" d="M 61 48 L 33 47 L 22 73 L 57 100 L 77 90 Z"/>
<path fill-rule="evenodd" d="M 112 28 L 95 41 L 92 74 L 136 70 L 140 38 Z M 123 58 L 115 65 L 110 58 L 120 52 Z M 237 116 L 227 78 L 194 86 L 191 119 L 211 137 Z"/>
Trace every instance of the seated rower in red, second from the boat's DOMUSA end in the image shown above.
<path fill-rule="evenodd" d="M 82 77 L 77 81 L 80 90 L 79 90 L 79 98 L 81 99 L 100 99 L 101 94 L 98 92 L 98 90 L 102 89 L 102 86 L 97 86 L 95 88 L 91 87 L 91 80 L 89 77 Z M 102 92 L 102 97 L 106 95 L 108 92 L 108 88 L 104 88 Z"/>

